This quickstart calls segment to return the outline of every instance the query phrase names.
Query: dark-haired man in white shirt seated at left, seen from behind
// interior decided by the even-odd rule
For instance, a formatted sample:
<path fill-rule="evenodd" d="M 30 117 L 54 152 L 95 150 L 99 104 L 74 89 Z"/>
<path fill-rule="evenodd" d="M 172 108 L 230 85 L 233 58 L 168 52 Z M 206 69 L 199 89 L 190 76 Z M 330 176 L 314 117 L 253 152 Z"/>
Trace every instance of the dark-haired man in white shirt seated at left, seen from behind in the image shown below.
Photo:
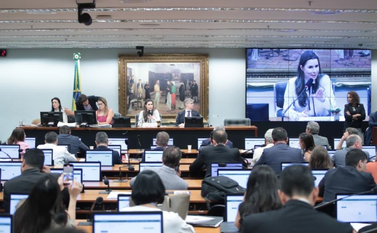
<path fill-rule="evenodd" d="M 70 154 L 66 148 L 58 147 L 58 134 L 55 132 L 48 132 L 44 136 L 44 145 L 38 145 L 38 149 L 52 149 L 52 156 L 54 165 L 68 164 L 69 162 L 76 162 L 74 155 Z"/>

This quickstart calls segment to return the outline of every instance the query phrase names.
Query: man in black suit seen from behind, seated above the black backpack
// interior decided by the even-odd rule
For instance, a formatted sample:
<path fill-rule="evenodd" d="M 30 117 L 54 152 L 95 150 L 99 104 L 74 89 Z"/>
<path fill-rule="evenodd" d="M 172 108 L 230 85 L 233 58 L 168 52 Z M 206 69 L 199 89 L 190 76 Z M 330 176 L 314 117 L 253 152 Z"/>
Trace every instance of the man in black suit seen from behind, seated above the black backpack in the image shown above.
<path fill-rule="evenodd" d="M 199 150 L 198 157 L 190 165 L 190 172 L 201 171 L 205 165 L 207 169 L 205 176 L 207 177 L 211 175 L 211 163 L 220 162 L 242 162 L 243 166 L 247 167 L 237 148 L 225 146 L 227 140 L 228 135 L 225 131 L 216 130 L 213 133 L 213 147 L 203 147 Z"/>

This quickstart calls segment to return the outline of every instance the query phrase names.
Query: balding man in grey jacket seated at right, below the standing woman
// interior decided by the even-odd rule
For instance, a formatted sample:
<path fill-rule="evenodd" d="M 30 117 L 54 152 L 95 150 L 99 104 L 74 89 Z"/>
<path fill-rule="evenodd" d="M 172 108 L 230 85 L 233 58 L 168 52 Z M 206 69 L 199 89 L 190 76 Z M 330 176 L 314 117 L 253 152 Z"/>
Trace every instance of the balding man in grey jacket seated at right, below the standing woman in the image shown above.
<path fill-rule="evenodd" d="M 361 150 L 363 148 L 361 137 L 357 134 L 352 134 L 347 137 L 347 148 L 345 150 L 336 150 L 331 161 L 336 168 L 346 166 L 346 154 L 351 150 Z M 369 152 L 363 151 L 366 154 L 366 159 L 369 159 Z"/>

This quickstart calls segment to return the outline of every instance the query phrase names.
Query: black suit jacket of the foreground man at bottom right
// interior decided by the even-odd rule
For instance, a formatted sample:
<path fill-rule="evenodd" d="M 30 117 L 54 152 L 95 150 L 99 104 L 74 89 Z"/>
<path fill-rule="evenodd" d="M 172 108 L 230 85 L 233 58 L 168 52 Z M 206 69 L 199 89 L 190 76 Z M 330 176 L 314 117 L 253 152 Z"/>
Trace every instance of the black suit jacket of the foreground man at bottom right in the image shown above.
<path fill-rule="evenodd" d="M 288 201 L 281 209 L 247 215 L 241 233 L 351 233 L 348 223 L 336 221 L 299 200 Z"/>

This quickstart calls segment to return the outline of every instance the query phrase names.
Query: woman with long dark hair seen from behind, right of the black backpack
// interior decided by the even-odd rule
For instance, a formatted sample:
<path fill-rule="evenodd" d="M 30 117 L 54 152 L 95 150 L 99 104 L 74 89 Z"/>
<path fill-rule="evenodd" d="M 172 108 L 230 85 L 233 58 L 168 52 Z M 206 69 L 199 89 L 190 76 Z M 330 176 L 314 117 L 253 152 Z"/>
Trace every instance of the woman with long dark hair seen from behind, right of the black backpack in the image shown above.
<path fill-rule="evenodd" d="M 246 215 L 277 210 L 282 207 L 277 195 L 279 188 L 279 179 L 272 168 L 260 165 L 253 169 L 247 181 L 244 201 L 239 205 L 236 221 L 234 221 L 238 230 Z"/>

